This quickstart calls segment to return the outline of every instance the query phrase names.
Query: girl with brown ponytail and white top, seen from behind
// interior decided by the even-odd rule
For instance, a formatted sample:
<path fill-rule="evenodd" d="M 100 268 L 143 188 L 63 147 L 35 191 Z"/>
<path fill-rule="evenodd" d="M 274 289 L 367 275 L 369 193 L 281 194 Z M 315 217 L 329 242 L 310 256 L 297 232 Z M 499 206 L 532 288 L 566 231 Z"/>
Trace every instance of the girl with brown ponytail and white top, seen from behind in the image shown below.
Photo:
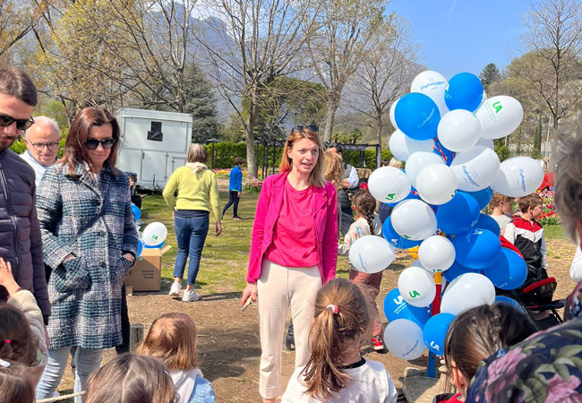
<path fill-rule="evenodd" d="M 371 303 L 347 279 L 332 279 L 315 300 L 312 353 L 287 384 L 283 403 L 394 403 L 398 394 L 384 365 L 360 355 L 369 337 Z"/>

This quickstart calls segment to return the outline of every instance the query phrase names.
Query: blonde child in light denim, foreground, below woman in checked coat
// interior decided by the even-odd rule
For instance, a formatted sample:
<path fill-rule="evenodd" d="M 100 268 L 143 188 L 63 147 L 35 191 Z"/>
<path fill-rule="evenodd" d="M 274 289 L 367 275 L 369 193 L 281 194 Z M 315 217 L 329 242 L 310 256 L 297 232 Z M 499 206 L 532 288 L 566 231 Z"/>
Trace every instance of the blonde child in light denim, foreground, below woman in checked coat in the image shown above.
<path fill-rule="evenodd" d="M 166 313 L 156 319 L 137 354 L 158 358 L 170 373 L 179 403 L 214 403 L 212 384 L 196 367 L 196 325 L 184 313 Z M 177 403 L 176 402 L 176 403 Z"/>

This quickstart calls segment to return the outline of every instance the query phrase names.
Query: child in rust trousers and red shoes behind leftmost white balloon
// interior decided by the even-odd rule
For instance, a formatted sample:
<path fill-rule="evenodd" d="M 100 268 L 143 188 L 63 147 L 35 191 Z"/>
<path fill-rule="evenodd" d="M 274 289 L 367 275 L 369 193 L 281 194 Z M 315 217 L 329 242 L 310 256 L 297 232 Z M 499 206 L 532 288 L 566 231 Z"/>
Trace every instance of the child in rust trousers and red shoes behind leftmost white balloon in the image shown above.
<path fill-rule="evenodd" d="M 338 245 L 338 254 L 346 256 L 349 253 L 349 248 L 354 244 L 355 240 L 362 236 L 369 235 L 379 235 L 378 228 L 380 219 L 374 213 L 376 209 L 376 200 L 372 197 L 372 194 L 367 190 L 361 190 L 355 193 L 354 205 L 352 207 L 355 210 L 356 220 L 349 227 L 346 237 L 344 238 L 344 243 Z M 376 230 L 373 228 L 376 227 Z M 373 231 L 373 232 L 372 232 Z M 366 291 L 369 293 L 372 301 L 376 300 L 376 296 L 380 293 L 380 285 L 382 282 L 382 271 L 378 273 L 364 273 L 362 271 L 357 271 L 354 267 L 349 270 L 349 279 L 355 283 L 360 283 L 366 287 Z M 375 307 L 375 303 L 374 303 Z M 372 328 L 372 347 L 374 351 L 384 354 L 388 352 L 388 349 L 384 345 L 382 340 L 382 324 L 380 322 L 380 314 L 378 313 L 378 308 L 375 307 L 373 310 L 373 328 Z"/>

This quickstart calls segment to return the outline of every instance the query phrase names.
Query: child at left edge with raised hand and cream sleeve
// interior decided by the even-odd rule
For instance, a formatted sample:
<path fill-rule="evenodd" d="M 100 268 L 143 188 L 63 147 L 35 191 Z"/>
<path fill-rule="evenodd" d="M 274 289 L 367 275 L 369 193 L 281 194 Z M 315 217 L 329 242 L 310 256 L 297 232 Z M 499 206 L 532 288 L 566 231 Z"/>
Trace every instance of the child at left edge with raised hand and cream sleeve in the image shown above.
<path fill-rule="evenodd" d="M 0 359 L 27 367 L 35 388 L 47 365 L 45 324 L 39 305 L 30 291 L 13 278 L 10 262 L 0 258 L 0 286 L 8 291 L 8 302 L 0 304 Z"/>

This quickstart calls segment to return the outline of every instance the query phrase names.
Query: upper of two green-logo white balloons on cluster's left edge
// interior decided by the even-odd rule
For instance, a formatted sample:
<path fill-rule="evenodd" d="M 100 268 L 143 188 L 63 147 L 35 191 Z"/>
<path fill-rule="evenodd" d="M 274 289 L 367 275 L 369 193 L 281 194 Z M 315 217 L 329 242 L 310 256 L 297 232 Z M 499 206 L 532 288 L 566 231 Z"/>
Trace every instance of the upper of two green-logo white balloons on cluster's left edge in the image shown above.
<path fill-rule="evenodd" d="M 379 167 L 368 179 L 368 190 L 377 201 L 396 203 L 410 194 L 410 181 L 397 167 Z"/>

